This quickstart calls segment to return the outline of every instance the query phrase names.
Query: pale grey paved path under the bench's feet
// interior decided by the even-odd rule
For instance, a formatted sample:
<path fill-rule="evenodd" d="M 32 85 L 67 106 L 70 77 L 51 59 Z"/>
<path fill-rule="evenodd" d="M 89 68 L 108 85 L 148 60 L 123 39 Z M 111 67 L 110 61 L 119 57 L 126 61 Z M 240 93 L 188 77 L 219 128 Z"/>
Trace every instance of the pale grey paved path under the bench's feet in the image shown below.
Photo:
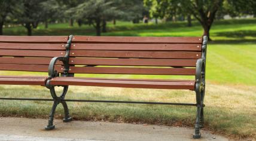
<path fill-rule="evenodd" d="M 56 129 L 45 131 L 47 119 L 0 118 L 0 140 L 194 140 L 192 128 L 112 122 L 54 120 Z M 214 139 L 215 138 L 215 139 Z M 199 140 L 228 140 L 202 131 Z"/>

